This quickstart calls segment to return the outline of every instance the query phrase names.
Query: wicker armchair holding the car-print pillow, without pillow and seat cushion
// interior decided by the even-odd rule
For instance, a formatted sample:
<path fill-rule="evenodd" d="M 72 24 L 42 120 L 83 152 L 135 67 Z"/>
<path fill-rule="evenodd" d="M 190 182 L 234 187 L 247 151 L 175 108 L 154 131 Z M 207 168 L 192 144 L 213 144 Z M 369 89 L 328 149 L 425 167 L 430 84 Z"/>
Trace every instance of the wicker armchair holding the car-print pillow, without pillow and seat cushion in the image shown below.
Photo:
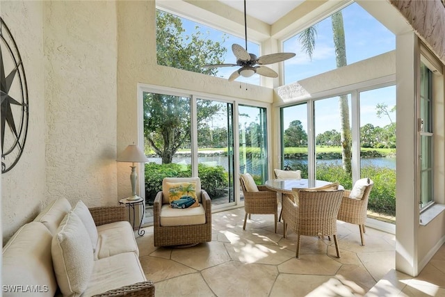
<path fill-rule="evenodd" d="M 162 211 L 163 208 L 168 208 L 168 198 L 166 199 L 165 193 L 160 191 L 154 198 L 153 204 L 154 246 L 186 246 L 211 241 L 211 199 L 209 194 L 201 189 L 200 179 L 198 177 L 167 177 L 163 179 L 163 188 L 165 188 L 165 182 L 197 182 L 196 194 L 200 207 L 204 208 L 205 222 L 197 225 L 162 225 Z"/>

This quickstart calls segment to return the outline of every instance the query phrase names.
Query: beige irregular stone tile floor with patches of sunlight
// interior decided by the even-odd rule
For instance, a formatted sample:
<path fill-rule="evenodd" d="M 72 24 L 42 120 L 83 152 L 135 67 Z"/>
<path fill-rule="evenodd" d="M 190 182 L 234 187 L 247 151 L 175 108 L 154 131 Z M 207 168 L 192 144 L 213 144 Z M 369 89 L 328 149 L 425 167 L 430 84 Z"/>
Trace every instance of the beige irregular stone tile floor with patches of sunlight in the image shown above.
<path fill-rule="evenodd" d="M 147 279 L 163 296 L 445 296 L 445 248 L 418 278 L 394 270 L 395 236 L 338 222 L 341 258 L 327 237 L 273 232 L 273 215 L 252 215 L 243 230 L 244 209 L 212 214 L 212 241 L 192 248 L 156 248 L 153 227 L 137 237 Z M 137 236 L 137 234 L 136 234 Z M 430 282 L 428 282 L 430 280 Z M 430 294 L 435 292 L 435 294 Z"/>

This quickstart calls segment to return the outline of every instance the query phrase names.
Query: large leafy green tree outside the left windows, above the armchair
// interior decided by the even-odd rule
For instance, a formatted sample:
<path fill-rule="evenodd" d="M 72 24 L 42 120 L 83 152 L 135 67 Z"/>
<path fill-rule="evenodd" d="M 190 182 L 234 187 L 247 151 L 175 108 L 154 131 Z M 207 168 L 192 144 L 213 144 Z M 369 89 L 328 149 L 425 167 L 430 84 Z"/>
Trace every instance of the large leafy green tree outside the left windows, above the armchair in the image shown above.
<path fill-rule="evenodd" d="M 216 68 L 206 64 L 223 62 L 227 49 L 221 42 L 208 38 L 199 27 L 185 35 L 179 17 L 156 10 L 156 58 L 159 65 L 216 75 Z M 225 36 L 223 36 L 223 41 Z M 218 106 L 200 100 L 197 109 L 198 129 L 205 118 L 218 113 Z M 191 103 L 189 98 L 144 93 L 144 136 L 150 147 L 161 156 L 162 163 L 171 163 L 180 147 L 189 147 L 191 139 Z"/>

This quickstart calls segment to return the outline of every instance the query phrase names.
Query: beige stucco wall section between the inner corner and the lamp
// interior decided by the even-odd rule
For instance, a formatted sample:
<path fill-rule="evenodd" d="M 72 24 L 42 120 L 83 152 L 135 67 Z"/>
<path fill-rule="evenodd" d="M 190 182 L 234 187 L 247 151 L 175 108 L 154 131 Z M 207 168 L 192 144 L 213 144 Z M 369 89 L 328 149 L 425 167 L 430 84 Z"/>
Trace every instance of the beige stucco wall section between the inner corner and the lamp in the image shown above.
<path fill-rule="evenodd" d="M 116 204 L 117 25 L 113 1 L 44 2 L 47 191 Z"/>

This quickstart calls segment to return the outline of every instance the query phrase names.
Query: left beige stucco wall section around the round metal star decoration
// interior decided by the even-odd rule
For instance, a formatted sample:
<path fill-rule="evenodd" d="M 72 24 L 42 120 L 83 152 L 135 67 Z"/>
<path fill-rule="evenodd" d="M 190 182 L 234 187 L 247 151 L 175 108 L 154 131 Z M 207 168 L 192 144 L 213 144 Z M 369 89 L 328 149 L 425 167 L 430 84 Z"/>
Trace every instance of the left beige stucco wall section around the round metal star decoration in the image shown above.
<path fill-rule="evenodd" d="M 24 65 L 29 93 L 29 128 L 17 165 L 1 175 L 3 244 L 47 203 L 45 195 L 44 46 L 42 2 L 1 1 Z M 3 55 L 5 55 L 3 53 Z"/>

